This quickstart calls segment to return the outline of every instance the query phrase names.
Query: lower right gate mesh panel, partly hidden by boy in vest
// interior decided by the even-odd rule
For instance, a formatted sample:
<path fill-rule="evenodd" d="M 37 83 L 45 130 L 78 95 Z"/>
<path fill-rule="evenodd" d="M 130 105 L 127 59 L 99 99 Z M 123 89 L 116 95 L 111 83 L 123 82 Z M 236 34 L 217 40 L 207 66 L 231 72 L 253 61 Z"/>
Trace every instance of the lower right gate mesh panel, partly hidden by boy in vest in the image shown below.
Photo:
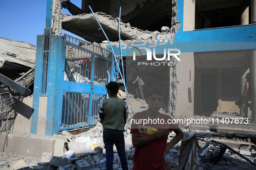
<path fill-rule="evenodd" d="M 93 94 L 92 96 L 92 110 L 91 110 L 91 124 L 96 124 L 99 121 L 100 104 L 107 98 L 104 94 Z"/>

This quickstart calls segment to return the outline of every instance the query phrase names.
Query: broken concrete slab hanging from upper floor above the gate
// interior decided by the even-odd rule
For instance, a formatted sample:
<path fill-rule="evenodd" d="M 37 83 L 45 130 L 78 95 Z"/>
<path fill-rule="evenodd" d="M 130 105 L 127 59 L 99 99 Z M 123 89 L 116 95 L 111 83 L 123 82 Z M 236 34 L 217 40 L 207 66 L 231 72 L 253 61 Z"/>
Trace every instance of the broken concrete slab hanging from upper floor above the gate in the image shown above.
<path fill-rule="evenodd" d="M 118 41 L 118 21 L 104 13 L 95 13 L 98 21 L 104 29 L 110 41 Z M 91 42 L 102 42 L 106 40 L 104 33 L 94 18 L 92 13 L 81 14 L 78 16 L 64 16 L 62 19 L 62 28 L 72 32 Z M 142 30 L 140 30 L 142 31 Z M 138 29 L 120 24 L 120 35 L 122 40 L 130 40 L 136 37 Z"/>

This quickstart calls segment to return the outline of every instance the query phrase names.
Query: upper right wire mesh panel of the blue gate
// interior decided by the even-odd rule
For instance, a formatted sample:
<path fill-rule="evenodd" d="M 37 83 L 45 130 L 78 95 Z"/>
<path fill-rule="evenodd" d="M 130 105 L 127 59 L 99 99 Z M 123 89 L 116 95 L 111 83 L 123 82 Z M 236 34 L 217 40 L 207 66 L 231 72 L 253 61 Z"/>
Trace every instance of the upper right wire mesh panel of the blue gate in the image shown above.
<path fill-rule="evenodd" d="M 94 58 L 94 85 L 105 86 L 110 80 L 111 62 L 95 56 Z"/>

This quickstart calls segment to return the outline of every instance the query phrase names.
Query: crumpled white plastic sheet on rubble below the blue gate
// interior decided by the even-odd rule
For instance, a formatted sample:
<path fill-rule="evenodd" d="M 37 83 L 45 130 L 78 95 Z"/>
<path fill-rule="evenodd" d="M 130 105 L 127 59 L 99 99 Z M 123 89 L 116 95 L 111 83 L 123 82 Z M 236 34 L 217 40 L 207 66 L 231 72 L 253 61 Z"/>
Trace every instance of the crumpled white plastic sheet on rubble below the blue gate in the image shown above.
<path fill-rule="evenodd" d="M 69 142 L 68 149 L 75 151 L 75 154 L 94 152 L 94 148 L 89 136 L 78 137 L 75 139 L 75 141 Z"/>

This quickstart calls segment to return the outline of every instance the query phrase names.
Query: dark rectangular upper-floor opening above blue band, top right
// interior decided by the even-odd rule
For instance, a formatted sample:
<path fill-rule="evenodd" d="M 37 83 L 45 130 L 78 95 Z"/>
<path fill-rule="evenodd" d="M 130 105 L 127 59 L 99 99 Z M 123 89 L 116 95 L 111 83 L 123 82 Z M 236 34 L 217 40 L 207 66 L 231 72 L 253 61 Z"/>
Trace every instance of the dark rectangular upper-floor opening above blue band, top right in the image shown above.
<path fill-rule="evenodd" d="M 205 18 L 206 16 L 206 18 Z M 205 29 L 207 19 L 210 28 L 251 24 L 250 1 L 234 0 L 221 2 L 196 0 L 195 29 Z"/>

